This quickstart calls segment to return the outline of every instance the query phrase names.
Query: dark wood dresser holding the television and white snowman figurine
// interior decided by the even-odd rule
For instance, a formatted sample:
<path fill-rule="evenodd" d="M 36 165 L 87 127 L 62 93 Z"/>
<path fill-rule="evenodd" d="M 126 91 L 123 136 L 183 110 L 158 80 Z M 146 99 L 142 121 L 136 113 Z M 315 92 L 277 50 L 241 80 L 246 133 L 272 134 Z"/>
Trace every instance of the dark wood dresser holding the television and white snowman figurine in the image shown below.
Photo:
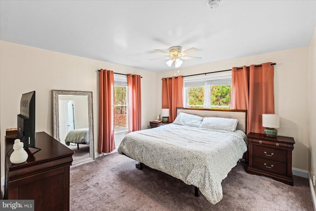
<path fill-rule="evenodd" d="M 74 151 L 45 132 L 36 133 L 37 148 L 27 148 L 26 162 L 12 164 L 14 138 L 5 139 L 4 199 L 34 200 L 35 211 L 69 211 L 70 166 Z"/>

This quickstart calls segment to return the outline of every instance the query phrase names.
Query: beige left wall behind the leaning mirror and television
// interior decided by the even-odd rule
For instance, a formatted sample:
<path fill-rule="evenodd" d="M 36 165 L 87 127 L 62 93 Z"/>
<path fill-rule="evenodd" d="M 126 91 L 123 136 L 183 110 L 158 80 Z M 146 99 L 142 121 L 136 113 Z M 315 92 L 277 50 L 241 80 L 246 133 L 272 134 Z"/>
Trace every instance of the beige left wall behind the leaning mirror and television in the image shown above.
<path fill-rule="evenodd" d="M 36 91 L 36 131 L 52 135 L 52 89 L 93 92 L 94 149 L 98 143 L 98 72 L 139 74 L 142 78 L 142 128 L 156 118 L 156 73 L 0 41 L 0 148 L 4 176 L 5 129 L 16 127 L 23 93 Z"/>

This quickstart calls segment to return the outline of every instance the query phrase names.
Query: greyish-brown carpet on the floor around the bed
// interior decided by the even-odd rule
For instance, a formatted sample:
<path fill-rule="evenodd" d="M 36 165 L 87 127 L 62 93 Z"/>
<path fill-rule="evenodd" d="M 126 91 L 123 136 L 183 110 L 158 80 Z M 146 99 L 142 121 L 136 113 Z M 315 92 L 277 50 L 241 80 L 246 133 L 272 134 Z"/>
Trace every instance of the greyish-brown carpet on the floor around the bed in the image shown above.
<path fill-rule="evenodd" d="M 294 186 L 245 172 L 238 163 L 222 182 L 216 205 L 194 187 L 158 170 L 136 169 L 137 162 L 113 153 L 70 171 L 71 211 L 313 211 L 306 178 Z"/>

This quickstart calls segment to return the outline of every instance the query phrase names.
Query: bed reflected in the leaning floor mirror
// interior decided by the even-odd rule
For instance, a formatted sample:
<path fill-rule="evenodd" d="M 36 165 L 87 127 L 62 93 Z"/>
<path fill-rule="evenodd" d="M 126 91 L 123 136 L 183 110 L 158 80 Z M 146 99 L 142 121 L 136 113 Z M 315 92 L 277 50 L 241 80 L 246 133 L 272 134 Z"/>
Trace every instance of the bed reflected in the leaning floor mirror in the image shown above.
<path fill-rule="evenodd" d="M 69 146 L 70 143 L 76 143 L 79 149 L 79 144 L 89 144 L 89 128 L 80 128 L 70 130 L 65 138 L 65 143 Z"/>

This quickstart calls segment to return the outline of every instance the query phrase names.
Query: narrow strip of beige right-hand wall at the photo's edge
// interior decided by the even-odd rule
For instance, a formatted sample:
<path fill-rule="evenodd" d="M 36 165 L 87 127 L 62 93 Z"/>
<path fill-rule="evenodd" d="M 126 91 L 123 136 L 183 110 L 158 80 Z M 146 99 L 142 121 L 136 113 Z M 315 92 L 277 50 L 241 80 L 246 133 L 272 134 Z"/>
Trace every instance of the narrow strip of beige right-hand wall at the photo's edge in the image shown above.
<path fill-rule="evenodd" d="M 309 170 L 310 176 L 316 176 L 316 28 L 310 44 L 310 94 L 309 94 L 309 112 L 310 112 L 310 139 L 309 139 Z M 312 180 L 313 181 L 313 180 Z M 313 186 L 314 196 L 316 196 L 316 187 Z M 315 205 L 316 206 L 316 205 Z"/>

